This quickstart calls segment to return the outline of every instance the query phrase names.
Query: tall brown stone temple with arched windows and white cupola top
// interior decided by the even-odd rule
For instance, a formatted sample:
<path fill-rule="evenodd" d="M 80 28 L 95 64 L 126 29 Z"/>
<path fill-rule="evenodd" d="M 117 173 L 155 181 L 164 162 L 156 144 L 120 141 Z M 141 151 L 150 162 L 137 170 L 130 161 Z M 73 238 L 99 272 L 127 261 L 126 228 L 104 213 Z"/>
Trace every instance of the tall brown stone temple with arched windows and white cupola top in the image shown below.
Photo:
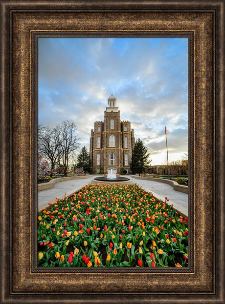
<path fill-rule="evenodd" d="M 90 131 L 89 153 L 92 172 L 101 171 L 107 174 L 108 169 L 113 169 L 115 174 L 120 174 L 123 170 L 130 174 L 134 145 L 134 129 L 131 129 L 131 122 L 120 121 L 116 98 L 110 96 L 104 122 L 94 122 L 94 129 Z"/>

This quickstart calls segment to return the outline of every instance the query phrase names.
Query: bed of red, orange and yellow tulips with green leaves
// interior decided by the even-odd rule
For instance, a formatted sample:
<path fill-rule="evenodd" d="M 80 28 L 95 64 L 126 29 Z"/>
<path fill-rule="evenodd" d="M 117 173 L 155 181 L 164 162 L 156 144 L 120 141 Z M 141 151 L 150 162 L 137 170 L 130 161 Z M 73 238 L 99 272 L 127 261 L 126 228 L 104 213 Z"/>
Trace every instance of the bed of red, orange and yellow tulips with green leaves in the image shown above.
<path fill-rule="evenodd" d="M 137 185 L 86 185 L 38 215 L 39 267 L 185 267 L 187 218 Z"/>

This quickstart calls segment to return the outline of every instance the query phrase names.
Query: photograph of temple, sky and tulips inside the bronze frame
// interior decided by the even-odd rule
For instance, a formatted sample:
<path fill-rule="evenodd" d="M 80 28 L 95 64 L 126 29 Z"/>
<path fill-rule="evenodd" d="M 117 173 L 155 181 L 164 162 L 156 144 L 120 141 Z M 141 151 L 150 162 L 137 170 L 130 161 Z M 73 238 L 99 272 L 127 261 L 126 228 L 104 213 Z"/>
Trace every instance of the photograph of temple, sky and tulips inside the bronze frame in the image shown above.
<path fill-rule="evenodd" d="M 38 267 L 186 268 L 192 42 L 95 35 L 37 40 Z"/>

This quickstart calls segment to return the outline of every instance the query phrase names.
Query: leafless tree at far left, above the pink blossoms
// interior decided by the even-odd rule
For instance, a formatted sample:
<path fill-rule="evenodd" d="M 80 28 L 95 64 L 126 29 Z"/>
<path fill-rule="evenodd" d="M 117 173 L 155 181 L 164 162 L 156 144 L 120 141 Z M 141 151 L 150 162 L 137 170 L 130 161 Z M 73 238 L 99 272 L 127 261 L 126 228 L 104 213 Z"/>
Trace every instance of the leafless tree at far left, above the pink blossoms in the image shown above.
<path fill-rule="evenodd" d="M 60 164 L 62 150 L 58 142 L 53 128 L 48 126 L 38 126 L 38 152 L 51 162 L 51 170 L 56 164 Z"/>

